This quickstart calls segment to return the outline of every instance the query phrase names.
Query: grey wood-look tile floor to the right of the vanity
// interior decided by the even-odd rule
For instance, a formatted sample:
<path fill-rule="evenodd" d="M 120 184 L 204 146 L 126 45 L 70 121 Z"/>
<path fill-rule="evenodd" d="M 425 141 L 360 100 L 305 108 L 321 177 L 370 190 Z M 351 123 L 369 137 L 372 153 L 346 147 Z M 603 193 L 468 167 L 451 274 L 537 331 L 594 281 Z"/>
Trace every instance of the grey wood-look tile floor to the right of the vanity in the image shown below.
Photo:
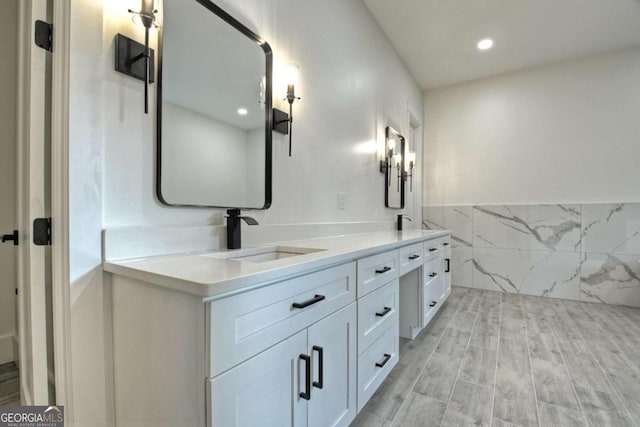
<path fill-rule="evenodd" d="M 640 309 L 454 287 L 351 425 L 640 427 Z"/>

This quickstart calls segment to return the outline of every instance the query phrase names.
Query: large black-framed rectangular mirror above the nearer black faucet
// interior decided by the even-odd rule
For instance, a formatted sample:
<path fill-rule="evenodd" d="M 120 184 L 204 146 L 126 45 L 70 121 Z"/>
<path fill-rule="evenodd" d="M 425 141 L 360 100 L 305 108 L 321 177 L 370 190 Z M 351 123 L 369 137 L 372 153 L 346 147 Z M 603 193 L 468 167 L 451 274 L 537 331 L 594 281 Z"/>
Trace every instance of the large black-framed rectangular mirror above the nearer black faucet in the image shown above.
<path fill-rule="evenodd" d="M 271 204 L 268 43 L 208 0 L 163 0 L 156 194 L 170 206 Z"/>

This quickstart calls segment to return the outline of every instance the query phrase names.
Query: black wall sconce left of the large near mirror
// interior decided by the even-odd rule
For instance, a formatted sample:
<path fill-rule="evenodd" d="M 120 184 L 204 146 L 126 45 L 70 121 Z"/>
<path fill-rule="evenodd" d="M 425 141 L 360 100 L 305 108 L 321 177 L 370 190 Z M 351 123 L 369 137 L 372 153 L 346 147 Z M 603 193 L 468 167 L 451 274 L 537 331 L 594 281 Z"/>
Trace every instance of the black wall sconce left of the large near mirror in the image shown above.
<path fill-rule="evenodd" d="M 144 112 L 149 114 L 149 84 L 153 83 L 154 52 L 149 48 L 149 30 L 156 26 L 154 0 L 141 0 L 140 10 L 129 9 L 144 26 L 144 45 L 122 34 L 116 35 L 116 71 L 144 81 Z"/>

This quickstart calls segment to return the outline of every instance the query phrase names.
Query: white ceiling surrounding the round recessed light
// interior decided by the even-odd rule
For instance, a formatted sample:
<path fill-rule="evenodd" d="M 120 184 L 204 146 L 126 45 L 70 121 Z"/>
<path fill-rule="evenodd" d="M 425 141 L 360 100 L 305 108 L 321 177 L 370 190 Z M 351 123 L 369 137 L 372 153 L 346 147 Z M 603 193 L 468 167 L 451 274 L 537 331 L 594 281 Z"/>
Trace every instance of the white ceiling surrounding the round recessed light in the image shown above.
<path fill-rule="evenodd" d="M 423 89 L 640 46 L 640 0 L 363 1 Z"/>

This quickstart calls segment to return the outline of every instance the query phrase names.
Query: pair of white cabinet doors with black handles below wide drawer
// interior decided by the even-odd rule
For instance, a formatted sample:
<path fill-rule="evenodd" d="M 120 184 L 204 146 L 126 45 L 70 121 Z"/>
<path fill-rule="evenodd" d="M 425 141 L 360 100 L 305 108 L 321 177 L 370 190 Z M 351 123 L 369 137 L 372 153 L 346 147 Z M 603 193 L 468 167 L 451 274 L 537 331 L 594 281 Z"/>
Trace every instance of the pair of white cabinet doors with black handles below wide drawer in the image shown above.
<path fill-rule="evenodd" d="M 207 381 L 213 426 L 348 426 L 356 416 L 355 304 Z"/>

